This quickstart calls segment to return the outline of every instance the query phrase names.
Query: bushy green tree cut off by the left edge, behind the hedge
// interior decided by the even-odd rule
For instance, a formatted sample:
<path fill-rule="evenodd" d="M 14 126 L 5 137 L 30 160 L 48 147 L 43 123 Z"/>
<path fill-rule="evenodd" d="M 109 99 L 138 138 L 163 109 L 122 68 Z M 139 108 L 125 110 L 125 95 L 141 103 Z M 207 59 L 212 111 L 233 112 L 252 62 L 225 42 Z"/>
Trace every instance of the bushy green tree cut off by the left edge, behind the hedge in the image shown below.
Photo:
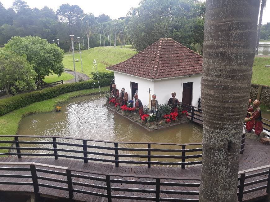
<path fill-rule="evenodd" d="M 9 96 L 19 90 L 35 88 L 34 78 L 36 73 L 25 57 L 20 57 L 14 52 L 5 49 L 0 50 L 0 86 Z"/>

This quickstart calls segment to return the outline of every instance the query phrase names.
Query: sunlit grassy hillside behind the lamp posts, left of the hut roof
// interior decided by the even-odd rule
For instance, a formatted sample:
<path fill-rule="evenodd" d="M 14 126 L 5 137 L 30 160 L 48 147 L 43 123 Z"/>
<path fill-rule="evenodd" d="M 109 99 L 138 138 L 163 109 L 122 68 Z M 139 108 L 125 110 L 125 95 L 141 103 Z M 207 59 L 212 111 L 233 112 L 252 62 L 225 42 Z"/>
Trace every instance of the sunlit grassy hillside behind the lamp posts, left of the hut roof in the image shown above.
<path fill-rule="evenodd" d="M 84 50 L 82 51 L 83 73 L 92 77 L 91 72 L 93 71 L 94 59 L 97 61 L 97 69 L 99 72 L 109 72 L 105 67 L 123 62 L 124 60 L 131 58 L 136 53 L 137 52 L 130 46 L 126 46 L 126 48 L 121 48 L 121 46 L 116 46 L 116 48 L 105 46 Z M 76 72 L 82 72 L 80 54 L 79 52 L 76 52 L 74 55 L 75 60 L 79 59 L 79 62 L 75 62 Z M 74 70 L 72 53 L 65 54 L 63 64 L 65 68 Z M 94 70 L 94 72 L 96 71 Z"/>

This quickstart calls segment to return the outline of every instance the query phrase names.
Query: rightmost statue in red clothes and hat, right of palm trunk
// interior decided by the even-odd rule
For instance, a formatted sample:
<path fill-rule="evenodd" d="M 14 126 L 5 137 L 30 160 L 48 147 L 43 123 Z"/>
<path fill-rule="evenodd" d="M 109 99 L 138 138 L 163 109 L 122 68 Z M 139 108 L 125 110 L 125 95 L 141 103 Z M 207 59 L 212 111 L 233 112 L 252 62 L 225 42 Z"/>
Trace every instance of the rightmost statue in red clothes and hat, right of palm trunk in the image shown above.
<path fill-rule="evenodd" d="M 253 107 L 255 108 L 255 111 L 253 113 L 248 112 L 251 116 L 250 118 L 246 119 L 247 121 L 255 121 L 254 130 L 255 134 L 258 136 L 261 134 L 261 132 L 263 132 L 262 112 L 259 107 L 260 103 L 261 102 L 257 99 L 253 102 Z"/>

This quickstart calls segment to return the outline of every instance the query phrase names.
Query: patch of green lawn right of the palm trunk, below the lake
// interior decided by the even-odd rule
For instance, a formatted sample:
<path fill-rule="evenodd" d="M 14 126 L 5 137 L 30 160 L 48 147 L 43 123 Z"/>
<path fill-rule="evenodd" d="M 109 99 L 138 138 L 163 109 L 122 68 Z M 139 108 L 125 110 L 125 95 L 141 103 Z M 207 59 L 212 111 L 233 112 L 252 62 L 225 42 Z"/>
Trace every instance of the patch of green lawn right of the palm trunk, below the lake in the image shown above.
<path fill-rule="evenodd" d="M 265 65 L 270 65 L 270 57 L 255 57 L 251 83 L 270 86 L 270 68 Z"/>

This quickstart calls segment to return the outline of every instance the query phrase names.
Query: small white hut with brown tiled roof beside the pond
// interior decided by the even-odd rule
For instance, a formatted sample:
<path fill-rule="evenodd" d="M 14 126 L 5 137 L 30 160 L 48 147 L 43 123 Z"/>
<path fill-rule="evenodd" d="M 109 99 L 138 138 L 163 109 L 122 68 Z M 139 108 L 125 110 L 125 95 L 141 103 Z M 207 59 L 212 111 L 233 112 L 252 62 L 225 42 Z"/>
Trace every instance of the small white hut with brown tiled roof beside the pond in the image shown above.
<path fill-rule="evenodd" d="M 168 103 L 171 93 L 176 98 L 198 106 L 200 98 L 202 56 L 171 38 L 161 38 L 124 62 L 107 67 L 114 71 L 119 92 L 122 87 L 131 100 L 138 90 L 143 105 L 148 105 L 149 92 L 159 104 Z"/>

